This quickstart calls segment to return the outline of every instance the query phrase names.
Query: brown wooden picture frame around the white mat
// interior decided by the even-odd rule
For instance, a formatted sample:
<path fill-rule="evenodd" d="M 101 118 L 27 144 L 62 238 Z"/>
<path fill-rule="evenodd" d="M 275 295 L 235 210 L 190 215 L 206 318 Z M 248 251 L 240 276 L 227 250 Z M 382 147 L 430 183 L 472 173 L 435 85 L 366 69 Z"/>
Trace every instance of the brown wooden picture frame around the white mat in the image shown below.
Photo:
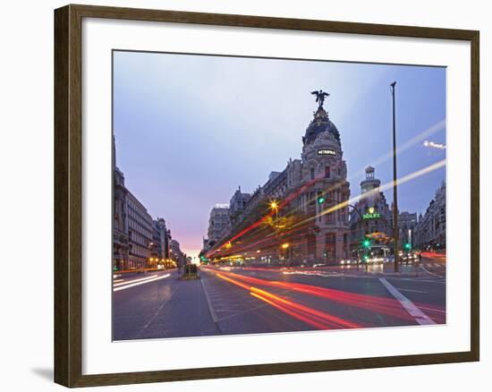
<path fill-rule="evenodd" d="M 83 375 L 81 316 L 81 24 L 83 18 L 469 41 L 471 43 L 471 350 L 443 354 Z M 56 383 L 66 387 L 88 387 L 472 361 L 479 361 L 479 31 L 89 5 L 67 5 L 55 10 Z"/>

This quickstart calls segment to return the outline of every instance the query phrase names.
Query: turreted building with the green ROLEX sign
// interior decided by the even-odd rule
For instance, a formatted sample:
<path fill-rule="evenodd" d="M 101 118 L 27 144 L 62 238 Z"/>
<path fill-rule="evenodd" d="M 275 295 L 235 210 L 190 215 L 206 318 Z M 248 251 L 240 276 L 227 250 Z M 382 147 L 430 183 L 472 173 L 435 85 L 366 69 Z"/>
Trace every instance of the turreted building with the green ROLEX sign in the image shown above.
<path fill-rule="evenodd" d="M 374 173 L 374 167 L 366 168 L 366 178 L 361 182 L 361 200 L 351 211 L 351 248 L 354 257 L 364 238 L 369 237 L 374 244 L 386 244 L 393 235 L 393 216 L 385 194 L 379 191 L 381 181 Z"/>

